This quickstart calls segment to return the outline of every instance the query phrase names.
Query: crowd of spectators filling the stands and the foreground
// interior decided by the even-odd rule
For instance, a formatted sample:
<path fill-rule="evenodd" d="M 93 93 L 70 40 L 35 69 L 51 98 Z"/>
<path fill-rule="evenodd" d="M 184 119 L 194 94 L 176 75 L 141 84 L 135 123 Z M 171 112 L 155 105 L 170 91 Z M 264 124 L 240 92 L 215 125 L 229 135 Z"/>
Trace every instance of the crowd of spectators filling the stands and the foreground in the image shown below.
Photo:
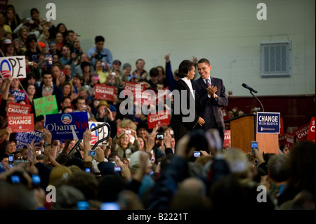
<path fill-rule="evenodd" d="M 119 93 L 126 81 L 155 93 L 177 87 L 181 78 L 173 75 L 178 71 L 171 70 L 170 54 L 164 57 L 165 66 L 147 72 L 140 58 L 132 70 L 128 62 L 113 60 L 102 35 L 85 53 L 79 34 L 65 24 L 55 27 L 51 20 L 40 18 L 37 8 L 32 8 L 30 18 L 20 19 L 12 5 L 0 13 L 0 41 L 3 57 L 25 55 L 27 73 L 25 79 L 0 79 L 0 209 L 100 210 L 109 203 L 121 210 L 315 209 L 315 143 L 282 146 L 280 154 L 260 149 L 246 154 L 223 148 L 223 131 L 229 129 L 223 122 L 211 126 L 206 119 L 208 129 L 193 129 L 175 138 L 179 130 L 172 125 L 148 129 L 146 114 L 121 114 L 125 98 Z M 207 60 L 198 62 L 194 57 L 189 62 L 190 67 L 205 64 L 211 70 Z M 223 85 L 220 79 L 206 78 Z M 114 101 L 95 98 L 95 84 L 114 86 Z M 213 86 L 199 94 L 202 91 L 216 105 L 227 106 L 224 87 L 223 95 Z M 79 150 L 73 150 L 77 139 L 52 140 L 33 103 L 48 95 L 55 95 L 60 113 L 87 112 L 88 121 L 109 124 L 107 144 L 91 153 L 91 129 L 84 132 Z M 31 105 L 34 131 L 43 133 L 38 143 L 19 145 L 6 119 L 9 102 Z M 162 108 L 171 110 L 167 105 Z M 209 110 L 220 114 L 218 108 L 201 114 L 207 117 Z M 230 119 L 242 114 L 236 107 L 228 109 Z M 204 120 L 199 124 L 203 126 Z M 260 199 L 259 186 L 267 190 Z"/>

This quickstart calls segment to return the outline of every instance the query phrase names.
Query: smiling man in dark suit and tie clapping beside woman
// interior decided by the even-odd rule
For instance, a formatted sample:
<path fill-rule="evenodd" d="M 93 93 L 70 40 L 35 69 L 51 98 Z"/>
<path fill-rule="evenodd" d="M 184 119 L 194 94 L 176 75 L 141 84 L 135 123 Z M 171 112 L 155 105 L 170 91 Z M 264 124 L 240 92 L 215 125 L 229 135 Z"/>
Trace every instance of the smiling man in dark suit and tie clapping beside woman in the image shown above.
<path fill-rule="evenodd" d="M 212 66 L 206 58 L 197 62 L 197 71 L 200 78 L 192 85 L 195 88 L 195 102 L 197 104 L 197 115 L 203 117 L 204 131 L 218 129 L 220 138 L 224 140 L 225 124 L 220 107 L 227 107 L 228 98 L 225 94 L 225 86 L 222 79 L 210 77 Z M 199 126 L 196 126 L 199 128 Z"/>

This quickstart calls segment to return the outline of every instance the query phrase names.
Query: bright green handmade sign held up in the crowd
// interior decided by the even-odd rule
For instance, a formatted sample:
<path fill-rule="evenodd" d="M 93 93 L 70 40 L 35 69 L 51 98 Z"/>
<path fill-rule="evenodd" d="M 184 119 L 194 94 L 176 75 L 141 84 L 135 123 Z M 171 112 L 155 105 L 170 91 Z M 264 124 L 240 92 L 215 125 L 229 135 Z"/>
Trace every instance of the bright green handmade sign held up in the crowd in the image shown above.
<path fill-rule="evenodd" d="M 58 105 L 55 95 L 48 95 L 33 100 L 36 116 L 45 114 L 57 114 Z"/>

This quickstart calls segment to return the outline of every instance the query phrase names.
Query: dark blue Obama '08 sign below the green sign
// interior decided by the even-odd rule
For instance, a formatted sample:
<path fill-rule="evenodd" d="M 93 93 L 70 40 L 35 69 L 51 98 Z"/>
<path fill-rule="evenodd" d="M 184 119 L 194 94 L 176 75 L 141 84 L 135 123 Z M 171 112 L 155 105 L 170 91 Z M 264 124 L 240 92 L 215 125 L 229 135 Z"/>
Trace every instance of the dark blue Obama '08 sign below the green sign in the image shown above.
<path fill-rule="evenodd" d="M 86 111 L 47 114 L 45 129 L 51 131 L 52 140 L 81 139 L 88 129 L 88 114 Z"/>

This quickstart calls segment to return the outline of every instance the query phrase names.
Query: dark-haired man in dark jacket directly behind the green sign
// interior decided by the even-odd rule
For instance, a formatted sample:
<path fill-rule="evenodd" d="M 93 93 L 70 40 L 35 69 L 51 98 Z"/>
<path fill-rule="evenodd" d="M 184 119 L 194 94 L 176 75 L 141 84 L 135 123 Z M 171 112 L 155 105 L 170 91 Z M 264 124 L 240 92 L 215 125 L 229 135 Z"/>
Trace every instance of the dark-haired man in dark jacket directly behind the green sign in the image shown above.
<path fill-rule="evenodd" d="M 43 81 L 37 88 L 37 96 L 38 98 L 55 95 L 58 109 L 60 110 L 60 100 L 62 99 L 62 89 L 55 84 L 53 84 L 53 75 L 50 71 L 46 71 L 43 74 Z"/>

